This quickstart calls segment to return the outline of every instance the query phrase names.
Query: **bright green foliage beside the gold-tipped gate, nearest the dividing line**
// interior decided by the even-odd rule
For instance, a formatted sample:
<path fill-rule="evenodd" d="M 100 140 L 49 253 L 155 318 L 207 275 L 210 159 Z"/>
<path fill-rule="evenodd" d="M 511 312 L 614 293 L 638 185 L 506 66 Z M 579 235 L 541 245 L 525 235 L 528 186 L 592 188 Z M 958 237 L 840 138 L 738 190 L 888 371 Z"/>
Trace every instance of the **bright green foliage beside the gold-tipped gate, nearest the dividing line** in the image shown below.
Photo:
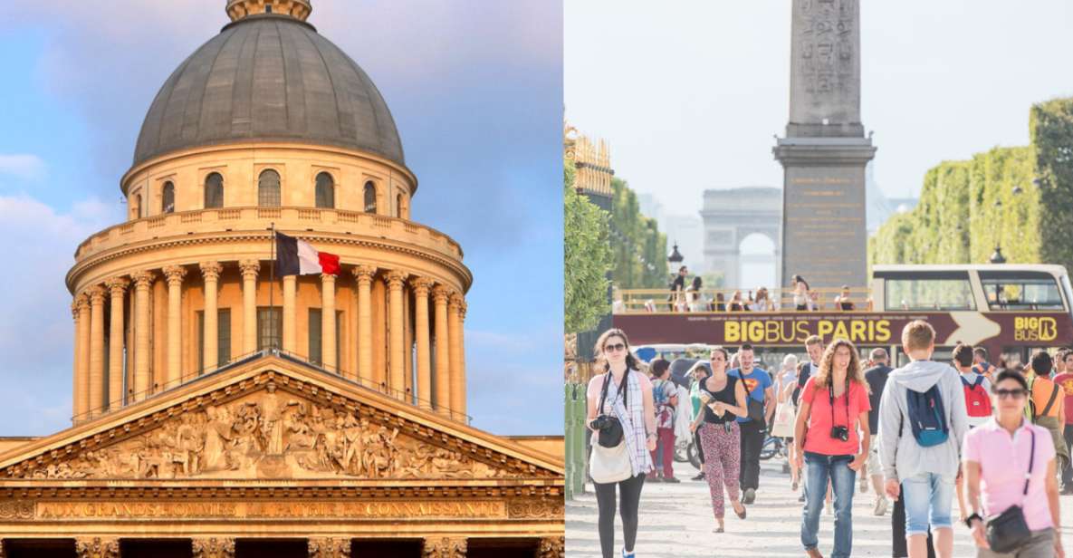
<path fill-rule="evenodd" d="M 611 312 L 607 303 L 612 253 L 607 212 L 574 189 L 576 171 L 564 161 L 563 287 L 567 333 L 591 329 Z"/>

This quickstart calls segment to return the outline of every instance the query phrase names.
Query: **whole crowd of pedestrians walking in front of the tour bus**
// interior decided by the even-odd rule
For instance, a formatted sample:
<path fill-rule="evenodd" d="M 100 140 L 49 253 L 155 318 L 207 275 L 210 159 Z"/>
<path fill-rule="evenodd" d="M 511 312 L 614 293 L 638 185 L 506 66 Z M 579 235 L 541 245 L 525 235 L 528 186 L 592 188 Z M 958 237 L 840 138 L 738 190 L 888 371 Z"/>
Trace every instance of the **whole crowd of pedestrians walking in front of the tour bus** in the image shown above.
<path fill-rule="evenodd" d="M 761 449 L 778 436 L 790 447 L 791 488 L 802 491 L 806 556 L 823 556 L 824 510 L 834 516 L 832 556 L 852 555 L 859 487 L 871 489 L 877 516 L 893 502 L 894 557 L 951 558 L 955 503 L 978 557 L 1063 557 L 1059 494 L 1073 494 L 1073 350 L 1041 350 L 1027 366 L 1006 366 L 990 364 L 984 348 L 959 344 L 947 364 L 932 359 L 935 341 L 927 322 L 908 324 L 909 362 L 895 369 L 883 349 L 862 359 L 848 340 L 812 336 L 807 358 L 787 355 L 774 375 L 756 366 L 749 344 L 733 353 L 714 348 L 689 370 L 685 400 L 670 363 L 653 359 L 649 377 L 626 333 L 605 332 L 596 347 L 604 373 L 588 386 L 593 457 L 618 451 L 629 464 L 620 478 L 593 471 L 604 558 L 616 556 L 616 486 L 621 556 L 632 558 L 645 482 L 679 482 L 672 462 L 680 406 L 703 462 L 694 480 L 708 484 L 714 532 L 724 531 L 727 500 L 747 518 L 760 490 Z M 605 441 L 612 422 L 622 434 Z"/>

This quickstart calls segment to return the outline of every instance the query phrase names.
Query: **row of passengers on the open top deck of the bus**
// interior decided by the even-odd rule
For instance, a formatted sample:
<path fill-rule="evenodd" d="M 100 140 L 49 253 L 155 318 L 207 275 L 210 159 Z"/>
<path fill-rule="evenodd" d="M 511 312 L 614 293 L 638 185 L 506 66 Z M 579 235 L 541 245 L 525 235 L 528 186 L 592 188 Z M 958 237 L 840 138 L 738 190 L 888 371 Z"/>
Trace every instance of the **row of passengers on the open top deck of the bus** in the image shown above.
<path fill-rule="evenodd" d="M 689 279 L 689 269 L 686 266 L 678 268 L 678 274 L 671 279 L 668 285 L 671 293 L 667 295 L 666 306 L 672 312 L 775 312 L 780 309 L 795 309 L 797 311 L 811 311 L 824 309 L 824 302 L 820 292 L 813 291 L 808 281 L 802 276 L 795 275 L 791 280 L 793 285 L 790 293 L 790 303 L 781 300 L 781 295 L 774 295 L 766 287 L 745 294 L 740 290 L 733 292 L 717 291 L 709 296 L 704 291 L 704 280 L 701 276 Z M 838 294 L 835 295 L 829 308 L 835 310 L 870 310 L 872 302 L 869 298 L 861 300 L 858 306 L 854 302 L 849 285 L 842 285 Z M 655 312 L 661 308 L 655 300 L 645 302 L 645 310 Z"/>

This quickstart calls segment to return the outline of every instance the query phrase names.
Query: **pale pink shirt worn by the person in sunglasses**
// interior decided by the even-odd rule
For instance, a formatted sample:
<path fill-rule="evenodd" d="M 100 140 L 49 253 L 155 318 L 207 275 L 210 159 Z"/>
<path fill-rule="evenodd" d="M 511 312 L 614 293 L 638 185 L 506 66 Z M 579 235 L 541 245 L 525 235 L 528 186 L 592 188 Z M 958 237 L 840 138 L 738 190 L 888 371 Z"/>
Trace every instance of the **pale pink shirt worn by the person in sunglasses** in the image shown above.
<path fill-rule="evenodd" d="M 1028 496 L 1021 496 L 1032 446 L 1028 428 L 1035 432 L 1035 462 L 1032 464 Z M 980 491 L 985 515 L 996 515 L 1020 504 L 1029 529 L 1054 527 L 1047 506 L 1046 476 L 1047 461 L 1055 458 L 1055 444 L 1046 428 L 1026 424 L 1011 436 L 991 418 L 969 430 L 961 455 L 966 461 L 980 464 Z"/>

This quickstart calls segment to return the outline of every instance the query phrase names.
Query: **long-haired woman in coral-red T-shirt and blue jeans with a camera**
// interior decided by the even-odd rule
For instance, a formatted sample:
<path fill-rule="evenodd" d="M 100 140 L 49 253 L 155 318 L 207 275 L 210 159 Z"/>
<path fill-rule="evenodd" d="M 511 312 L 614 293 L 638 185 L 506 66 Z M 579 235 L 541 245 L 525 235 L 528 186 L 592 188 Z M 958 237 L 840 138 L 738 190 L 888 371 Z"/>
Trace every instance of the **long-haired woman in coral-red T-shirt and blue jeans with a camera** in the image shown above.
<path fill-rule="evenodd" d="M 852 553 L 853 487 L 856 472 L 868 459 L 870 409 L 856 347 L 835 339 L 820 359 L 820 371 L 802 388 L 794 428 L 795 465 L 800 468 L 804 461 L 806 466 L 802 544 L 812 558 L 823 556 L 817 535 L 828 480 L 835 493 L 832 558 L 848 558 Z"/>

